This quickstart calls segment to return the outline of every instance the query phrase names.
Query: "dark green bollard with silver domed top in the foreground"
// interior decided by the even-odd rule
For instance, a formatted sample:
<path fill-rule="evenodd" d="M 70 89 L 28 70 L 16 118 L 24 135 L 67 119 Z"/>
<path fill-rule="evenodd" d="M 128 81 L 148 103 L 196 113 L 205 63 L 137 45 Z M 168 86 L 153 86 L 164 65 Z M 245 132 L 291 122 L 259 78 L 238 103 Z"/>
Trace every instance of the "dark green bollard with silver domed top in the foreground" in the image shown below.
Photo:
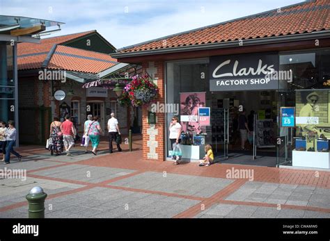
<path fill-rule="evenodd" d="M 40 187 L 34 187 L 26 195 L 29 202 L 29 218 L 45 218 L 45 199 L 47 194 Z"/>

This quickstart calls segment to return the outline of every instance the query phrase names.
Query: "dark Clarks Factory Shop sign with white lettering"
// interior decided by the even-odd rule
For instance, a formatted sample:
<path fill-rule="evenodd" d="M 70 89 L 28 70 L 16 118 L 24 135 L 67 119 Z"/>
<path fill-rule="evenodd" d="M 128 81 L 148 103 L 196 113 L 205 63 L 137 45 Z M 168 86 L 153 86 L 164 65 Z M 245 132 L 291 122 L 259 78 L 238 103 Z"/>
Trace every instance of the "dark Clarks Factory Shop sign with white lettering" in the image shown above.
<path fill-rule="evenodd" d="M 210 91 L 274 90 L 277 71 L 277 53 L 211 57 Z"/>

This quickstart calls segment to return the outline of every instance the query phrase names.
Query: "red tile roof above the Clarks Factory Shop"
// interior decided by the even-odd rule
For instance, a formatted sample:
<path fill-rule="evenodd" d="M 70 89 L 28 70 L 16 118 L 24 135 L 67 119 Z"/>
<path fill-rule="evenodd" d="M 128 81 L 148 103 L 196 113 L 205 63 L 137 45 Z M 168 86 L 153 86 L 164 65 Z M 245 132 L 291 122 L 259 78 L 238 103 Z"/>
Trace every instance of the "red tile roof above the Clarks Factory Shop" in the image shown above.
<path fill-rule="evenodd" d="M 308 1 L 136 44 L 119 53 L 325 31 L 330 29 L 329 13 L 330 0 Z"/>

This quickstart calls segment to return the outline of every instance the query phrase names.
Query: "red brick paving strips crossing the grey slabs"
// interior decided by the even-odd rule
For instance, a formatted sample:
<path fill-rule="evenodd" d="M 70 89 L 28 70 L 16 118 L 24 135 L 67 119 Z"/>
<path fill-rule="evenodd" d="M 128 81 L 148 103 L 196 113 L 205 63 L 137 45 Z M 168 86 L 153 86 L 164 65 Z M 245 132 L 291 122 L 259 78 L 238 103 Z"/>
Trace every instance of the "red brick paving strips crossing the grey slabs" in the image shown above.
<path fill-rule="evenodd" d="M 136 158 L 136 156 L 141 156 L 138 153 L 139 151 L 134 151 L 133 153 L 119 153 L 119 155 L 112 155 L 111 159 L 108 155 L 106 156 L 98 156 L 97 158 L 88 159 L 88 160 L 80 160 L 75 163 L 65 163 L 64 161 L 59 160 L 49 160 L 49 161 L 57 161 L 61 163 L 59 165 L 51 166 L 51 167 L 41 167 L 39 169 L 33 169 L 28 171 L 28 176 L 33 178 L 41 178 L 52 181 L 61 181 L 64 183 L 73 183 L 84 185 L 84 187 L 77 188 L 74 190 L 69 190 L 65 192 L 58 192 L 56 194 L 50 194 L 47 199 L 54 199 L 56 197 L 63 197 L 68 194 L 73 194 L 77 192 L 83 192 L 85 190 L 89 190 L 91 188 L 102 187 L 102 188 L 111 188 L 117 190 L 126 190 L 132 192 L 143 192 L 148 194 L 161 194 L 168 197 L 180 197 L 184 199 L 193 199 L 196 201 L 200 201 L 200 203 L 195 206 L 185 210 L 174 217 L 194 217 L 198 213 L 201 213 L 202 208 L 201 205 L 204 204 L 204 209 L 210 208 L 215 203 L 226 203 L 226 204 L 237 204 L 237 205 L 246 205 L 246 206 L 264 206 L 264 207 L 272 207 L 277 208 L 277 204 L 274 203 L 261 203 L 261 202 L 253 202 L 253 201 L 231 201 L 225 200 L 230 194 L 238 190 L 247 179 L 237 179 L 233 183 L 226 186 L 216 194 L 212 195 L 209 198 L 203 197 L 194 197 L 184 194 L 173 194 L 168 192 L 159 192 L 152 190 L 143 190 L 137 188 L 127 188 L 127 187 L 118 187 L 114 185 L 108 185 L 109 183 L 113 183 L 119 181 L 121 179 L 129 178 L 130 176 L 135 176 L 137 174 L 141 174 L 143 172 L 153 171 L 153 172 L 168 172 L 173 174 L 189 174 L 193 176 L 211 176 L 217 178 L 226 178 L 226 170 L 232 167 L 235 169 L 254 169 L 255 170 L 255 178 L 253 181 L 263 181 L 268 183 L 287 183 L 287 184 L 296 184 L 296 185 L 309 185 L 320 188 L 330 188 L 330 173 L 329 172 L 319 172 L 319 176 L 315 176 L 315 171 L 311 170 L 294 170 L 294 169 L 276 169 L 274 167 L 251 167 L 251 166 L 242 166 L 242 165 L 228 165 L 228 164 L 220 164 L 220 165 L 212 165 L 208 168 L 200 168 L 196 167 L 196 163 L 189 163 L 187 165 L 179 165 L 173 166 L 171 162 L 150 162 L 150 160 L 140 160 L 141 158 Z M 120 156 L 124 154 L 125 156 Z M 132 158 L 129 158 L 132 156 Z M 123 161 L 125 159 L 125 161 Z M 46 169 L 52 169 L 54 167 L 62 167 L 66 165 L 91 165 L 94 167 L 115 167 L 115 168 L 123 168 L 123 169 L 136 169 L 136 172 L 131 174 L 126 174 L 123 176 L 118 176 L 116 178 L 111 178 L 107 181 L 102 181 L 100 183 L 87 183 L 84 181 L 74 181 L 63 178 L 53 178 L 49 176 L 40 176 L 33 174 L 33 172 L 38 172 Z M 10 206 L 5 206 L 0 208 L 0 212 L 11 210 L 15 208 L 20 208 L 22 206 L 26 206 L 27 202 L 14 203 Z M 285 209 L 295 209 L 295 210 L 311 210 L 322 213 L 330 213 L 330 208 L 317 208 L 311 206 L 296 206 L 289 204 L 281 204 L 281 208 Z"/>

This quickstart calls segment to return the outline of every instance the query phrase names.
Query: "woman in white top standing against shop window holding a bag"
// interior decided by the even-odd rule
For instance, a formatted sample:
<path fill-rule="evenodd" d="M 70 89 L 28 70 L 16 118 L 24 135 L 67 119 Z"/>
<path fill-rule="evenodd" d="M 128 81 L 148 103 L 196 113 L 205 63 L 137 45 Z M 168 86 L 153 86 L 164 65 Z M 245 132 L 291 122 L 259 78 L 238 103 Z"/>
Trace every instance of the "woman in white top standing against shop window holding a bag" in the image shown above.
<path fill-rule="evenodd" d="M 180 160 L 182 157 L 182 151 L 180 147 L 182 126 L 179 123 L 178 117 L 175 116 L 172 118 L 171 124 L 169 126 L 169 131 L 169 139 L 171 141 L 172 147 L 172 160 L 175 160 L 173 165 L 178 165 L 180 164 Z"/>

